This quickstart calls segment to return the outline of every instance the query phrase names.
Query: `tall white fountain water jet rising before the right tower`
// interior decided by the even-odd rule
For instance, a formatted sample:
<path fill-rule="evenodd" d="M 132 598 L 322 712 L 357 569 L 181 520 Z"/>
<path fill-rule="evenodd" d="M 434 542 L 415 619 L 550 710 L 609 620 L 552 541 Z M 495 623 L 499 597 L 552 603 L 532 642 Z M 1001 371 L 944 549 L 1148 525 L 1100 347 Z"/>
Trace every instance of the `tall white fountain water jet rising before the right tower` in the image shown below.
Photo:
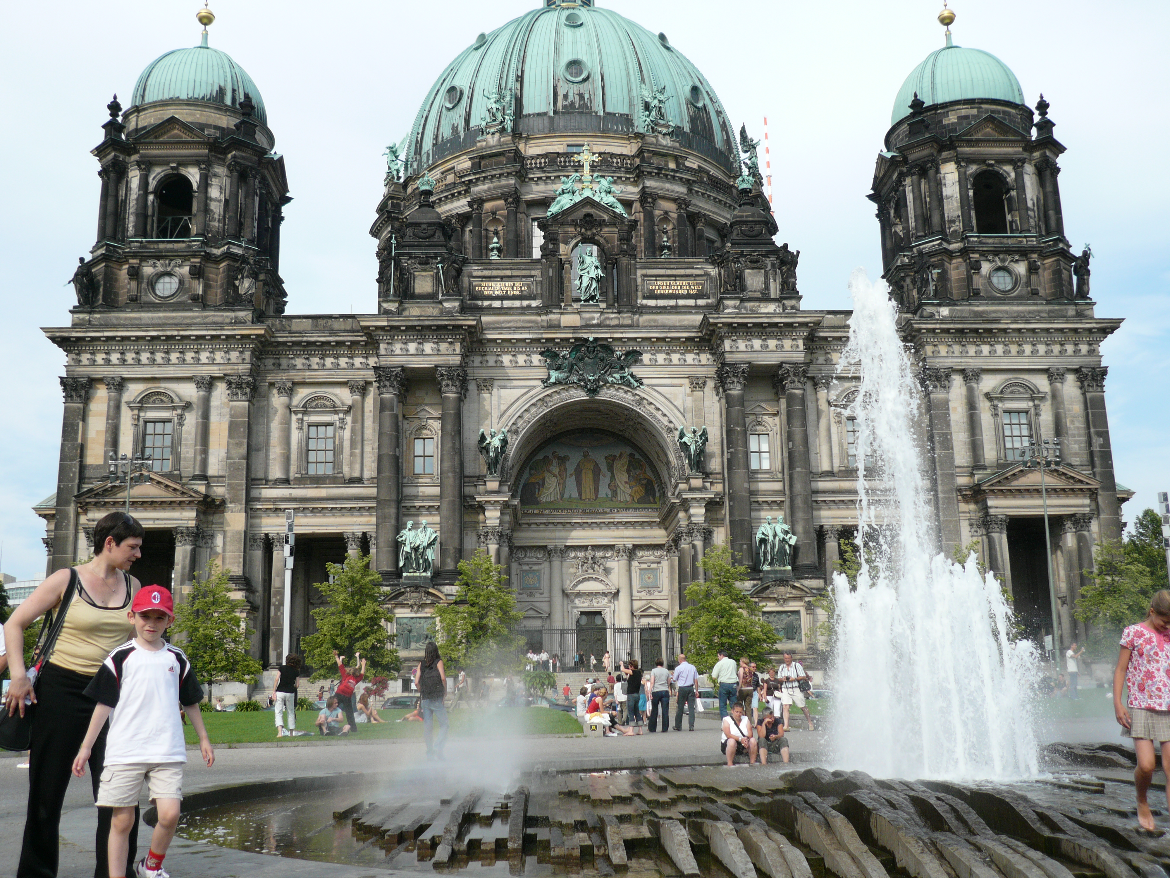
<path fill-rule="evenodd" d="M 972 554 L 937 548 L 924 475 L 921 393 L 897 308 L 865 270 L 839 373 L 860 376 L 856 588 L 837 574 L 833 760 L 879 777 L 1020 780 L 1039 771 L 1030 711 L 1033 645 L 1012 638 L 999 583 Z"/>

